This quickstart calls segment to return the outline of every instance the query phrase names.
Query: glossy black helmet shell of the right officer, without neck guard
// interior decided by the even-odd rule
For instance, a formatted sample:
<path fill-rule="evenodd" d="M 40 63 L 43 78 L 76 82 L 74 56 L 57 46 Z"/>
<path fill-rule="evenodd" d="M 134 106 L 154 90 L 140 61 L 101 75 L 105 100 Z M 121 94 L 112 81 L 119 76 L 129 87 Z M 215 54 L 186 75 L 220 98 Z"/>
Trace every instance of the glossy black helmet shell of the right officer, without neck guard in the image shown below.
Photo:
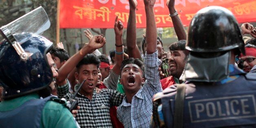
<path fill-rule="evenodd" d="M 231 11 L 210 6 L 196 13 L 188 28 L 187 50 L 209 53 L 236 48 L 245 54 L 243 37 Z"/>

